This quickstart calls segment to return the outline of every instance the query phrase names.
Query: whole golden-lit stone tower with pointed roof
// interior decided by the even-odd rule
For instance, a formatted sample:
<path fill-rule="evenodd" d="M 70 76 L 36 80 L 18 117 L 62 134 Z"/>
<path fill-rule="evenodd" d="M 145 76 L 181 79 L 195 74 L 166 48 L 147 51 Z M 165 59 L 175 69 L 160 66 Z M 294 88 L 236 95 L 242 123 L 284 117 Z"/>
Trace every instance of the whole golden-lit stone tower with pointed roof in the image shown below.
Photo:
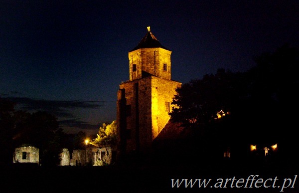
<path fill-rule="evenodd" d="M 117 101 L 119 153 L 148 152 L 170 119 L 175 88 L 171 80 L 171 51 L 147 34 L 129 52 L 129 80 L 120 84 Z"/>

